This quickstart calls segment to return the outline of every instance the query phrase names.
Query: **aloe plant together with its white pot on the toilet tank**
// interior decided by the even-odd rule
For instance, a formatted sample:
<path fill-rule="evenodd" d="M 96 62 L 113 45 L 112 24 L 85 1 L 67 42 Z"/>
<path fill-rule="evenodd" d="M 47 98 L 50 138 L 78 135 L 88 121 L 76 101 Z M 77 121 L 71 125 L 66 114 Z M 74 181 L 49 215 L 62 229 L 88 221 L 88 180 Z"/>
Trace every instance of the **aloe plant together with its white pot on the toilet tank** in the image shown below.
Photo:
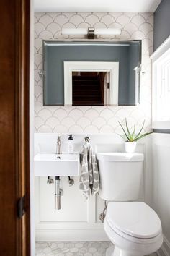
<path fill-rule="evenodd" d="M 120 124 L 120 122 L 119 122 Z M 145 120 L 143 121 L 143 125 L 140 129 L 140 131 L 135 134 L 135 125 L 133 127 L 133 132 L 130 132 L 130 128 L 128 127 L 128 122 L 127 119 L 125 119 L 125 127 L 126 129 L 124 129 L 124 127 L 122 126 L 122 124 L 120 124 L 120 127 L 122 127 L 122 130 L 124 132 L 124 136 L 120 135 L 123 139 L 125 139 L 125 152 L 127 153 L 133 153 L 135 152 L 135 147 L 136 147 L 136 143 L 138 140 L 142 139 L 143 137 L 146 137 L 147 135 L 150 135 L 152 132 L 146 132 L 141 134 L 143 127 L 145 124 Z"/>

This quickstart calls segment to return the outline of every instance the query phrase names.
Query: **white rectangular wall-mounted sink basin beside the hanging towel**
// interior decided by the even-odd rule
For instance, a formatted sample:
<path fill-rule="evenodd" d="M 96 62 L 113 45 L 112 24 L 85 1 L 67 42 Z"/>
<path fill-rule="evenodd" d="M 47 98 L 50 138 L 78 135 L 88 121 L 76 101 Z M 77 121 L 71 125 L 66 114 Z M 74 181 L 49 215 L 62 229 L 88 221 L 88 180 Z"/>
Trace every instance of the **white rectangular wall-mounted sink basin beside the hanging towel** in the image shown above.
<path fill-rule="evenodd" d="M 79 176 L 79 154 L 42 154 L 34 158 L 35 176 Z"/>

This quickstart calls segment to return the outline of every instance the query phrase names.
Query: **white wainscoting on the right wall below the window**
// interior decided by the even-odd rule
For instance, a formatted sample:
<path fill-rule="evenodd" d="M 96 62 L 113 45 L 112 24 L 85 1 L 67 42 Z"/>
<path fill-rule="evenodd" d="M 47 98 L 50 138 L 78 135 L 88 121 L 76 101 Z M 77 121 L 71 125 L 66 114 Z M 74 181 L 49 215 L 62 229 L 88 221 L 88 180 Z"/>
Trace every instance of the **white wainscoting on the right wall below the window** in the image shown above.
<path fill-rule="evenodd" d="M 170 135 L 153 135 L 153 208 L 161 218 L 164 244 L 159 255 L 170 255 Z"/>

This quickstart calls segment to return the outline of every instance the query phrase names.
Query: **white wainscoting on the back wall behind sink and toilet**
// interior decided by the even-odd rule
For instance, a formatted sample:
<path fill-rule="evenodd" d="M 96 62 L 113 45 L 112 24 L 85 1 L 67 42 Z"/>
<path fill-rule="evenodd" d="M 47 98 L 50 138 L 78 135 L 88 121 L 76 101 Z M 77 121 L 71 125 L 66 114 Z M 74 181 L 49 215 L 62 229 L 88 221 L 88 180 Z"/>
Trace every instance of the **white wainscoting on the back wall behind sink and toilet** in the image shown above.
<path fill-rule="evenodd" d="M 86 135 L 73 135 L 75 150 L 81 152 Z M 123 152 L 122 138 L 117 134 L 89 135 L 91 145 L 97 152 Z M 35 152 L 55 153 L 56 133 L 36 133 Z M 68 135 L 61 135 L 63 152 L 66 152 Z M 151 195 L 150 165 L 151 136 L 138 142 L 137 152 L 145 153 L 144 186 L 146 202 Z M 79 190 L 79 177 L 69 187 L 68 179 L 61 177 L 61 210 L 54 209 L 55 184 L 47 184 L 48 177 L 35 177 L 35 235 L 36 241 L 107 241 L 99 214 L 104 210 L 104 201 L 99 197 L 84 199 Z M 54 179 L 54 177 L 53 177 Z M 149 184 L 148 184 L 149 183 Z M 143 200 L 143 197 L 141 198 Z"/>

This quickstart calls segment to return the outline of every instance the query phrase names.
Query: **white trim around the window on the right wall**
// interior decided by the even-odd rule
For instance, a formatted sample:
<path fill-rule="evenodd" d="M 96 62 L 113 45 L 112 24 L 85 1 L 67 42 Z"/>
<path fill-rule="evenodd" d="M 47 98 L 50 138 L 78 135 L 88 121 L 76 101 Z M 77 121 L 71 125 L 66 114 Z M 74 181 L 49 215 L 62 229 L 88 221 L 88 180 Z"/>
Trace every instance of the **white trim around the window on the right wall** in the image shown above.
<path fill-rule="evenodd" d="M 170 121 L 156 120 L 156 64 L 159 59 L 168 54 L 170 51 L 170 36 L 156 49 L 151 55 L 152 67 L 152 128 L 153 129 L 170 129 Z"/>

